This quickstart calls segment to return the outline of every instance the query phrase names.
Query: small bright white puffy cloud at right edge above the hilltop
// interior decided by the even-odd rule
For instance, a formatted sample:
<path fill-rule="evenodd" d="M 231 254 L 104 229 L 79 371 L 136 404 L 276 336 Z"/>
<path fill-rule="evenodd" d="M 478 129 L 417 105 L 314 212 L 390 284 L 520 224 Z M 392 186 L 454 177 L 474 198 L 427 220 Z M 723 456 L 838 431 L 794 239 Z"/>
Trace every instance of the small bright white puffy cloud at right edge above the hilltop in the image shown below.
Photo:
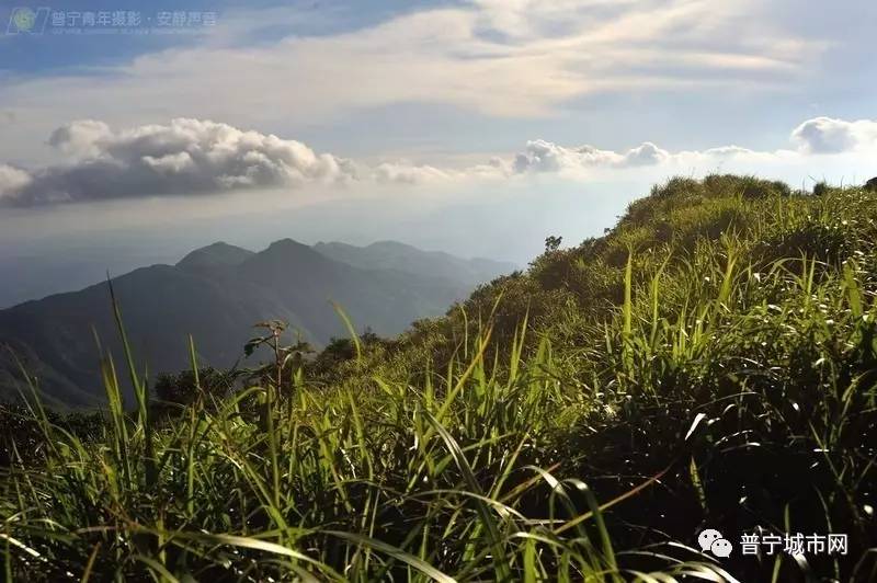
<path fill-rule="evenodd" d="M 796 127 L 791 139 L 800 150 L 811 153 L 864 150 L 877 146 L 877 121 L 817 117 Z"/>

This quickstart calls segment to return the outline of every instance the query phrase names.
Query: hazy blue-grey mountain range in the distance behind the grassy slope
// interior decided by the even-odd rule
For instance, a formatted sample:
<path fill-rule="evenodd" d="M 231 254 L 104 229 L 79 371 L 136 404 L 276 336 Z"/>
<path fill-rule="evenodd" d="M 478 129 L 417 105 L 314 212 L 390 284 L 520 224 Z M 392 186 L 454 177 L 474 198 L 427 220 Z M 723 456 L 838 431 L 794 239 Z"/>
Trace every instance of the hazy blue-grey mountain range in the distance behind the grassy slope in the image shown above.
<path fill-rule="evenodd" d="M 137 364 L 155 376 L 190 367 L 189 334 L 204 363 L 226 367 L 242 357 L 262 320 L 285 320 L 317 345 L 345 335 L 334 301 L 361 330 L 394 335 L 513 268 L 395 242 L 311 248 L 284 239 L 259 253 L 214 243 L 176 265 L 143 267 L 112 283 Z M 13 348 L 50 399 L 69 405 L 103 397 L 92 329 L 121 367 L 106 283 L 0 310 L 0 344 Z M 15 358 L 3 350 L 0 400 L 14 397 L 21 381 Z"/>

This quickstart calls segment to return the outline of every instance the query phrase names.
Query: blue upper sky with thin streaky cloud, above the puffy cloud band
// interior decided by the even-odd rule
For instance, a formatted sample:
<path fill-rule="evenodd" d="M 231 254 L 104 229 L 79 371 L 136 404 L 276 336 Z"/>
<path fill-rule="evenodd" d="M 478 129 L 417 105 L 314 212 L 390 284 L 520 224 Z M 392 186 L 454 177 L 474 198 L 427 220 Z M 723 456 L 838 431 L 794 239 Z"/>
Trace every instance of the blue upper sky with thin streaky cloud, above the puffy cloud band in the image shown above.
<path fill-rule="evenodd" d="M 113 0 L 30 7 L 67 13 L 129 8 Z M 159 1 L 137 10 L 153 21 L 161 11 L 217 14 L 215 27 L 189 27 L 183 34 L 7 35 L 0 41 L 4 115 L 25 117 L 29 107 L 22 102 L 42 102 L 42 107 L 31 107 L 33 119 L 18 124 L 33 135 L 3 148 L 0 159 L 39 163 L 53 155 L 44 148 L 48 133 L 39 130 L 76 118 L 134 126 L 194 116 L 275 133 L 341 156 L 379 157 L 397 150 L 500 153 L 537 138 L 611 149 L 642 141 L 668 149 L 728 144 L 775 149 L 788 146 L 789 132 L 806 119 L 873 116 L 877 66 L 868 55 L 877 4 L 868 0 L 832 5 L 800 0 L 311 0 L 241 7 Z M 0 9 L 0 22 L 8 22 L 12 10 Z M 645 23 L 654 30 L 641 30 Z M 588 42 L 589 31 L 600 38 Z M 430 38 L 441 50 L 430 46 Z M 320 47 L 328 48 L 326 62 Z M 244 58 L 223 69 L 230 53 L 250 50 L 260 53 L 252 71 Z M 368 50 L 374 50 L 371 59 Z M 352 56 L 357 58 L 351 68 L 386 71 L 375 78 L 383 90 L 369 87 L 368 95 L 356 99 L 364 88 L 343 87 L 349 71 L 332 58 Z M 198 58 L 210 89 L 221 88 L 214 106 L 204 98 L 215 93 L 197 89 L 202 80 L 193 61 Z M 272 71 L 272 58 L 288 61 Z M 149 59 L 167 59 L 167 72 L 159 64 L 141 62 Z M 490 66 L 491 59 L 504 65 Z M 328 87 L 308 99 L 300 94 L 308 88 L 295 82 L 299 68 L 307 69 L 308 82 L 319 82 L 321 70 L 334 72 Z M 409 68 L 434 68 L 441 82 L 411 90 L 403 79 Z M 215 79 L 217 70 L 227 77 L 224 82 Z M 261 104 L 246 95 L 235 80 L 248 75 L 254 92 L 273 95 Z M 469 91 L 448 88 L 448 81 L 465 84 L 466 76 L 483 78 L 470 77 Z M 103 99 L 88 91 L 95 79 Z M 417 76 L 411 81 L 423 82 Z M 37 94 L 52 88 L 70 91 L 68 106 L 57 103 L 60 95 Z M 12 99 L 3 99 L 9 90 Z M 138 94 L 148 95 L 149 103 L 118 103 Z"/>

